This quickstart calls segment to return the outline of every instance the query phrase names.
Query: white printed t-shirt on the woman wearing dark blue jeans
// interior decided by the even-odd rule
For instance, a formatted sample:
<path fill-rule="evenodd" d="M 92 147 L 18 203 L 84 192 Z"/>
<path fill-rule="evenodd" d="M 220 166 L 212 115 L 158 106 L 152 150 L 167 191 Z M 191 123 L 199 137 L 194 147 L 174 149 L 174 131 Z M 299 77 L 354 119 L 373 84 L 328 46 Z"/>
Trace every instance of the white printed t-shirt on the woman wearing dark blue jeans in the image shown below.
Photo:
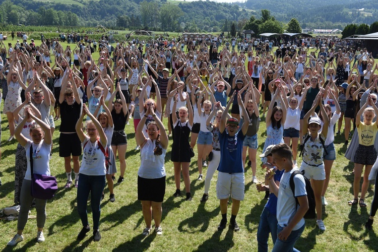
<path fill-rule="evenodd" d="M 99 141 L 101 143 L 101 140 Z M 97 143 L 98 143 L 97 141 L 92 143 L 89 140 L 88 136 L 85 137 L 85 140 L 82 143 L 83 159 L 82 159 L 80 170 L 79 170 L 80 173 L 88 175 L 88 176 L 105 175 L 106 173 L 105 155 L 101 151 Z M 102 146 L 105 146 L 103 143 L 101 144 Z"/>

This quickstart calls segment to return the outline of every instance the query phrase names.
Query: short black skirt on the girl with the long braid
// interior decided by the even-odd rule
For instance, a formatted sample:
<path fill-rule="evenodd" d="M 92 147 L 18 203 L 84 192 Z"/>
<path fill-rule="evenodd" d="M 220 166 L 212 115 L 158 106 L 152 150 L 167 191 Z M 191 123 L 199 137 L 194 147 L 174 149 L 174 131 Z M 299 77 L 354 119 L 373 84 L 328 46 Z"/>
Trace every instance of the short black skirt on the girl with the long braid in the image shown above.
<path fill-rule="evenodd" d="M 163 202 L 165 195 L 165 176 L 143 178 L 138 176 L 138 200 Z"/>

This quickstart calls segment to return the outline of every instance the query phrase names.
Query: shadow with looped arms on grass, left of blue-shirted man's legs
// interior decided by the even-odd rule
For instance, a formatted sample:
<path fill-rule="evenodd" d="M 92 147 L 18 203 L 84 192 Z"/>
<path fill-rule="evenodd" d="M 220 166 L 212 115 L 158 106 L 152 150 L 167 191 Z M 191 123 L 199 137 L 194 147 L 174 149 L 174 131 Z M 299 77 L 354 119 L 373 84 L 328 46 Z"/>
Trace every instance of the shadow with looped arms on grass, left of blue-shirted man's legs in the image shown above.
<path fill-rule="evenodd" d="M 192 217 L 188 217 L 178 224 L 178 230 L 186 233 L 205 232 L 209 227 L 210 220 L 219 215 L 219 211 L 220 207 L 217 207 L 208 212 L 205 209 L 205 203 L 201 203 Z"/>

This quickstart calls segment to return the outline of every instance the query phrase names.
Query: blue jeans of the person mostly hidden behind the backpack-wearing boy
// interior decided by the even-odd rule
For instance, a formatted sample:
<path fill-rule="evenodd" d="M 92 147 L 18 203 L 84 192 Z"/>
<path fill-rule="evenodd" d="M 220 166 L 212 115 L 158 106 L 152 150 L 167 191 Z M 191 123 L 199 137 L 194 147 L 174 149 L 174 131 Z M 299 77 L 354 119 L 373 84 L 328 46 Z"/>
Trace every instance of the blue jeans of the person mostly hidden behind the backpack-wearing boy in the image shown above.
<path fill-rule="evenodd" d="M 257 229 L 258 251 L 268 251 L 269 233 L 272 234 L 273 244 L 277 239 L 277 217 L 271 214 L 265 207 L 260 216 L 259 228 Z"/>

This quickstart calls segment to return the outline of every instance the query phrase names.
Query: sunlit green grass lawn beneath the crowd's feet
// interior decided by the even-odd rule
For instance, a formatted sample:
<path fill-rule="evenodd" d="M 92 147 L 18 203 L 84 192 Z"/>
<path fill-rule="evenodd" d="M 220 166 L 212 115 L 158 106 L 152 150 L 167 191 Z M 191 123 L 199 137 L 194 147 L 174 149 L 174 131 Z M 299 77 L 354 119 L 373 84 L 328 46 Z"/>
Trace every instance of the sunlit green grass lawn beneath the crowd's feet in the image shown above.
<path fill-rule="evenodd" d="M 64 44 L 66 48 L 66 44 Z M 96 59 L 98 53 L 94 55 Z M 3 103 L 1 109 L 3 109 Z M 0 208 L 13 205 L 14 197 L 14 167 L 16 140 L 7 142 L 9 130 L 7 130 L 7 117 L 1 114 L 3 131 L 2 136 L 2 160 L 0 163 L 0 176 L 3 186 L 0 187 Z M 167 120 L 164 119 L 166 125 Z M 249 167 L 245 173 L 245 200 L 241 202 L 237 222 L 239 232 L 233 232 L 226 228 L 223 232 L 217 231 L 220 222 L 219 201 L 216 199 L 215 185 L 217 174 L 214 175 L 210 187 L 209 200 L 200 203 L 203 195 L 204 181 L 198 181 L 197 154 L 191 162 L 191 192 L 193 201 L 186 202 L 184 196 L 173 198 L 175 192 L 173 163 L 170 161 L 171 143 L 166 155 L 165 169 L 166 194 L 163 202 L 162 228 L 163 235 L 155 233 L 147 238 L 142 235 L 145 227 L 142 207 L 137 200 L 137 172 L 140 165 L 139 151 L 136 147 L 133 121 L 127 125 L 125 131 L 128 134 L 127 172 L 125 180 L 115 184 L 115 203 L 108 201 L 109 192 L 105 187 L 105 199 L 101 203 L 100 230 L 102 239 L 93 242 L 91 235 L 83 241 L 77 241 L 76 237 L 82 228 L 82 224 L 76 209 L 76 189 L 65 189 L 66 174 L 64 160 L 58 156 L 58 137 L 60 121 L 55 121 L 55 133 L 53 135 L 53 155 L 50 160 L 51 173 L 57 177 L 58 191 L 56 196 L 48 201 L 46 206 L 47 219 L 45 224 L 46 241 L 36 243 L 36 220 L 30 219 L 24 231 L 24 241 L 16 246 L 18 250 L 31 251 L 88 251 L 92 250 L 164 250 L 164 251 L 257 251 L 257 228 L 260 214 L 266 204 L 264 194 L 258 193 L 256 186 L 252 184 L 252 173 Z M 265 122 L 261 122 L 259 136 L 259 150 L 261 154 L 266 139 Z M 343 134 L 343 133 L 342 133 Z M 378 247 L 377 225 L 373 225 L 373 231 L 366 232 L 366 222 L 373 196 L 373 186 L 370 186 L 367 196 L 367 208 L 350 207 L 347 202 L 353 198 L 352 187 L 353 164 L 343 157 L 346 148 L 343 147 L 343 135 L 335 137 L 337 160 L 331 173 L 331 181 L 326 194 L 328 206 L 323 208 L 323 218 L 327 230 L 322 233 L 316 226 L 315 220 L 306 220 L 306 228 L 301 238 L 296 243 L 296 248 L 301 251 L 374 251 Z M 197 148 L 195 148 L 197 153 Z M 298 163 L 300 163 L 300 158 Z M 117 167 L 119 161 L 117 160 Z M 260 168 L 258 160 L 258 180 L 263 180 L 264 170 Z M 204 168 L 204 178 L 206 174 Z M 118 173 L 119 174 L 119 173 Z M 118 178 L 118 174 L 116 178 Z M 181 190 L 183 190 L 183 181 Z M 89 222 L 92 225 L 91 210 L 88 207 Z M 231 210 L 228 211 L 228 219 Z M 35 215 L 35 209 L 31 210 Z M 5 251 L 13 250 L 6 246 L 7 242 L 16 233 L 17 221 L 0 221 L 0 248 Z M 273 243 L 269 240 L 269 248 Z"/>

